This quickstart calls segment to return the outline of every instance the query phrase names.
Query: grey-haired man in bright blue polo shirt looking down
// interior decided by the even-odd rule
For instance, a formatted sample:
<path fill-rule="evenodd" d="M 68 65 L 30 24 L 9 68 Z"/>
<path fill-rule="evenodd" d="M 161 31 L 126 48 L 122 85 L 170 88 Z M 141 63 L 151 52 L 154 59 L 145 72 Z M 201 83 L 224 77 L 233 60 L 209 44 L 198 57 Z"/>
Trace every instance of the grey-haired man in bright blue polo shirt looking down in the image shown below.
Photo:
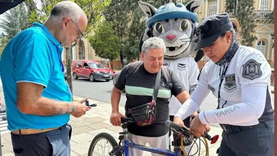
<path fill-rule="evenodd" d="M 74 2 L 57 3 L 44 25 L 34 23 L 5 47 L 0 76 L 15 156 L 70 156 L 70 114 L 91 107 L 72 102 L 63 77 L 62 47 L 79 42 L 87 27 Z"/>

